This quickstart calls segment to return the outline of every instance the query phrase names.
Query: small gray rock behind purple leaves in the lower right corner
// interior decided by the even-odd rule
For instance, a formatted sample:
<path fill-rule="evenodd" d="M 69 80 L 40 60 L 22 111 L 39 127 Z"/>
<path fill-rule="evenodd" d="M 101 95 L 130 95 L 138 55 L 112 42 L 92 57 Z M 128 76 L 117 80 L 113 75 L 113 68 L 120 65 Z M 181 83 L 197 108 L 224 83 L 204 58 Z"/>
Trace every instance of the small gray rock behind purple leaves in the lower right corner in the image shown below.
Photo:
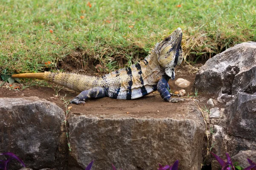
<path fill-rule="evenodd" d="M 231 157 L 233 162 L 238 162 L 238 164 L 245 168 L 250 166 L 247 161 L 247 158 L 251 159 L 252 161 L 256 161 L 256 150 L 241 150 L 238 154 Z"/>

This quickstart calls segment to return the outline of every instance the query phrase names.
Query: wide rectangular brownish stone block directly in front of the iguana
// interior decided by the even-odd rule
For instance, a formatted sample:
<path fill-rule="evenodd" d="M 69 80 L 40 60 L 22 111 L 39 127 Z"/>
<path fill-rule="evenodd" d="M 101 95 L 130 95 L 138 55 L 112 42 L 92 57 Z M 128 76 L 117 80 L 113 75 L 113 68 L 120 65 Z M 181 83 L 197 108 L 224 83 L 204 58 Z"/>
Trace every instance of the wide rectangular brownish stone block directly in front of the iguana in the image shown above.
<path fill-rule="evenodd" d="M 169 117 L 72 114 L 69 166 L 105 170 L 111 162 L 124 170 L 155 170 L 179 160 L 180 170 L 198 170 L 202 159 L 205 124 L 192 105 L 177 108 Z M 110 168 L 108 168 L 110 169 Z"/>

